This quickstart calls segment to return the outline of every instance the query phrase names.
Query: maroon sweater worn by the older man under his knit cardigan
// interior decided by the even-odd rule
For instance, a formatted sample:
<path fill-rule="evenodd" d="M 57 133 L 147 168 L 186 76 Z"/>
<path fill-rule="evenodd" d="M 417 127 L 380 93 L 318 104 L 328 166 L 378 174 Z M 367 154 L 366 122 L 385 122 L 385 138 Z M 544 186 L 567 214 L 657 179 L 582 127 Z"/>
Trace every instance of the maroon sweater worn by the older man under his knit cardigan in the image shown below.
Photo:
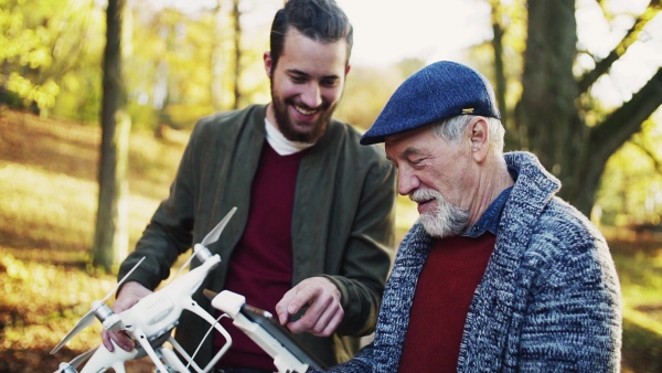
<path fill-rule="evenodd" d="M 457 372 L 469 303 L 495 241 L 489 232 L 435 239 L 416 284 L 401 372 Z"/>

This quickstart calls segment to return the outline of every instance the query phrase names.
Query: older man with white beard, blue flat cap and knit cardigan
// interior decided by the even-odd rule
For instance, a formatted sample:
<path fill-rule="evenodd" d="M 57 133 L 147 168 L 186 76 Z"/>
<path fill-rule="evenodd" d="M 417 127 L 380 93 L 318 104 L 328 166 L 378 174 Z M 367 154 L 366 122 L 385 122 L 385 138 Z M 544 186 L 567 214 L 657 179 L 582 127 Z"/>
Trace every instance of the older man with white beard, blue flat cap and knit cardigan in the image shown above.
<path fill-rule="evenodd" d="M 620 290 L 601 234 L 527 152 L 503 153 L 493 89 L 438 62 L 391 97 L 385 142 L 420 220 L 401 244 L 375 340 L 332 372 L 612 372 Z"/>

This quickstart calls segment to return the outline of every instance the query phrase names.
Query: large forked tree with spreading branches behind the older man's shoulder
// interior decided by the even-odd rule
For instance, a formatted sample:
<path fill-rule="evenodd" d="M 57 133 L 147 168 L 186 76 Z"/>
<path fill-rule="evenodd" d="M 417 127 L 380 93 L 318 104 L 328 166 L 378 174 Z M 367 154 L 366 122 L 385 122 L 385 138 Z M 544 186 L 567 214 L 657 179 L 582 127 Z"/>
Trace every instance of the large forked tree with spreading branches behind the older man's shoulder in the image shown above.
<path fill-rule="evenodd" d="M 605 18 L 612 15 L 609 6 L 616 2 L 600 3 Z M 503 23 L 514 19 L 514 8 L 508 13 L 501 1 L 491 3 L 496 89 L 500 102 L 505 103 L 508 72 L 502 62 L 508 24 Z M 508 2 L 513 4 L 517 2 Z M 516 10 L 520 19 L 526 20 L 526 42 L 514 117 L 505 110 L 508 143 L 535 152 L 562 180 L 560 195 L 587 214 L 609 157 L 662 105 L 662 70 L 658 66 L 648 83 L 616 108 L 605 107 L 592 89 L 601 77 L 610 76 L 633 45 L 647 40 L 647 25 L 661 8 L 660 1 L 653 0 L 639 14 L 626 14 L 631 15 L 631 28 L 607 55 L 591 54 L 578 43 L 575 0 L 528 0 L 525 8 L 520 4 Z M 579 58 L 591 63 L 579 63 Z"/>

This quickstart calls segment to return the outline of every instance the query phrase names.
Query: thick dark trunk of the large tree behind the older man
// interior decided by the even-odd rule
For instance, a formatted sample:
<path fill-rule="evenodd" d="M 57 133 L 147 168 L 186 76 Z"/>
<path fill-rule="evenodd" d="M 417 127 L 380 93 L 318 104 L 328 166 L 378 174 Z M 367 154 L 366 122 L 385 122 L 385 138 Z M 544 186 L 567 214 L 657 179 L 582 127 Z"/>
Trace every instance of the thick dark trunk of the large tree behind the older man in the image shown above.
<path fill-rule="evenodd" d="M 559 195 L 564 198 L 581 188 L 577 172 L 587 161 L 587 131 L 575 107 L 579 92 L 573 75 L 575 0 L 528 0 L 527 24 L 516 120 L 526 127 L 528 149 L 563 181 Z"/>

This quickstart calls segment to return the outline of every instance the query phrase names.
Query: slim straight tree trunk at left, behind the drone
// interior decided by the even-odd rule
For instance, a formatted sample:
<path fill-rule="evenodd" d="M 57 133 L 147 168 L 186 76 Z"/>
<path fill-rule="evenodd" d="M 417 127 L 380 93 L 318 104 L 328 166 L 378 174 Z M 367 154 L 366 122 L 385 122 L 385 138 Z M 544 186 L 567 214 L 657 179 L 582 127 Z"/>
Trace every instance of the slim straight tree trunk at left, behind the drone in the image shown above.
<path fill-rule="evenodd" d="M 109 0 L 104 51 L 104 98 L 99 199 L 93 245 L 93 265 L 110 270 L 128 254 L 128 146 L 131 121 L 121 77 L 121 14 L 125 0 Z"/>

